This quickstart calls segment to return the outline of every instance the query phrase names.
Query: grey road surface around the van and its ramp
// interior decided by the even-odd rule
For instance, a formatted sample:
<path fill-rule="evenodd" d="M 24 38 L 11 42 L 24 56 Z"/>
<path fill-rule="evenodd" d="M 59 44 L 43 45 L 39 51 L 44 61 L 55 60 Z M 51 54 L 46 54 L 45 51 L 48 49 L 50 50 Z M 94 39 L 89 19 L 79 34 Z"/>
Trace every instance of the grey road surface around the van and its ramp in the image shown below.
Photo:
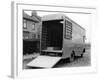
<path fill-rule="evenodd" d="M 91 54 L 90 54 L 90 48 L 86 49 L 86 52 L 84 53 L 83 58 L 76 57 L 73 62 L 69 62 L 67 59 L 61 59 L 53 68 L 64 68 L 64 67 L 83 67 L 83 66 L 90 66 L 91 65 Z M 41 69 L 36 67 L 28 67 L 27 64 L 31 62 L 33 59 L 36 58 L 33 55 L 30 55 L 29 57 L 24 57 L 23 60 L 23 69 Z"/>

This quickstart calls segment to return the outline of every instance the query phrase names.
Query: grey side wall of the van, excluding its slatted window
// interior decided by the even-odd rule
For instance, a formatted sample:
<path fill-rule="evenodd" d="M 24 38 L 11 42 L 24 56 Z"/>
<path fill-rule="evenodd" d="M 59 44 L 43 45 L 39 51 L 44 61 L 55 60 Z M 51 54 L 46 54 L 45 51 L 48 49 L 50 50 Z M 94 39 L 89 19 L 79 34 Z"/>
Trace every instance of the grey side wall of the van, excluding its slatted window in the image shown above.
<path fill-rule="evenodd" d="M 78 24 L 74 23 L 70 19 L 65 19 L 65 21 L 69 21 L 72 23 L 72 33 L 71 33 L 71 38 L 66 38 L 65 34 L 67 29 L 67 25 L 64 24 L 64 37 L 63 37 L 63 58 L 70 57 L 72 51 L 75 52 L 76 56 L 79 56 L 82 53 L 82 50 L 84 48 L 84 40 L 83 36 L 85 36 L 85 30 L 81 28 Z"/>

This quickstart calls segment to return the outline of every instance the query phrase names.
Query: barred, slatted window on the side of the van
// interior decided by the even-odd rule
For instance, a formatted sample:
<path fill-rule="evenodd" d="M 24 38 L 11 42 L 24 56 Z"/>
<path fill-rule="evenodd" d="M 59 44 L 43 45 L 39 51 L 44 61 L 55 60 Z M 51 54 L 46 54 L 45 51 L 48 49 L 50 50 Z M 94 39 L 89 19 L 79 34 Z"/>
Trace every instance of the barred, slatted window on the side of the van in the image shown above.
<path fill-rule="evenodd" d="M 65 38 L 72 39 L 72 23 L 65 20 Z"/>

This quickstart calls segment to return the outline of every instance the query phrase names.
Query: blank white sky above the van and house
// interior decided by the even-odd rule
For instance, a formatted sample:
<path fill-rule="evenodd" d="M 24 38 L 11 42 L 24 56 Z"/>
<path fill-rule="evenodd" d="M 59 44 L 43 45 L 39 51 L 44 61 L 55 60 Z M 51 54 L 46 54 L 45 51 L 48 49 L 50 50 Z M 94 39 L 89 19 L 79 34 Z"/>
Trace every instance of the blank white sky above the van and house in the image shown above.
<path fill-rule="evenodd" d="M 25 11 L 28 15 L 31 15 L 32 11 Z M 45 15 L 49 14 L 64 14 L 73 21 L 75 21 L 77 24 L 82 26 L 86 30 L 86 43 L 91 42 L 91 26 L 90 26 L 90 14 L 81 14 L 81 13 L 59 13 L 59 12 L 43 12 L 43 11 L 37 11 L 37 15 L 40 17 L 43 17 Z"/>

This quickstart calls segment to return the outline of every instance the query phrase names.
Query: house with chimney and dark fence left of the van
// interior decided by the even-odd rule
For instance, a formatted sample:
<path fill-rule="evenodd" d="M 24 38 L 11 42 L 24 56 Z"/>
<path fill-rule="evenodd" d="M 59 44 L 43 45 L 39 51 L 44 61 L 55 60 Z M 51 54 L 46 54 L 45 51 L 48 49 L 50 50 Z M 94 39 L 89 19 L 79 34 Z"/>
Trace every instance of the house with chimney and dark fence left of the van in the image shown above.
<path fill-rule="evenodd" d="M 29 16 L 23 12 L 23 54 L 39 50 L 41 18 L 33 11 Z"/>

